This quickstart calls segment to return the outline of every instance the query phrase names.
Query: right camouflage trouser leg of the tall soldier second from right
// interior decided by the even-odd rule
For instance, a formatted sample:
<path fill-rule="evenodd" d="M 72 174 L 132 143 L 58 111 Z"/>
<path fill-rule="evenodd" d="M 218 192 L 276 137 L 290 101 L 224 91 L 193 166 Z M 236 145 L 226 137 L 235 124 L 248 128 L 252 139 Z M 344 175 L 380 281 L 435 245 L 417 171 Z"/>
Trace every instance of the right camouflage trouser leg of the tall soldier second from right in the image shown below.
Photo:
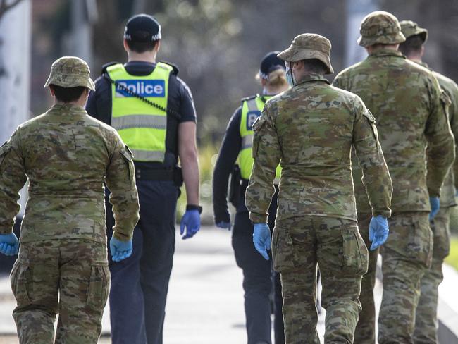
<path fill-rule="evenodd" d="M 412 344 L 421 278 L 431 266 L 433 232 L 428 212 L 394 213 L 381 249 L 383 297 L 378 315 L 379 344 Z"/>

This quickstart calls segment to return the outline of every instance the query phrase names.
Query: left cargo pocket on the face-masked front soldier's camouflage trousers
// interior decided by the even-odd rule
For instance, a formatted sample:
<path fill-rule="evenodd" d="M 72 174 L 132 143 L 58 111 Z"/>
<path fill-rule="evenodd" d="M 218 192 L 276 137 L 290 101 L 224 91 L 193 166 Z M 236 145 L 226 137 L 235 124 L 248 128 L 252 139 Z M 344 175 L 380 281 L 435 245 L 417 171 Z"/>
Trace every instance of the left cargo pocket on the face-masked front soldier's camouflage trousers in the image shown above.
<path fill-rule="evenodd" d="M 294 243 L 285 228 L 273 228 L 272 259 L 275 271 L 284 273 L 297 269 Z"/>

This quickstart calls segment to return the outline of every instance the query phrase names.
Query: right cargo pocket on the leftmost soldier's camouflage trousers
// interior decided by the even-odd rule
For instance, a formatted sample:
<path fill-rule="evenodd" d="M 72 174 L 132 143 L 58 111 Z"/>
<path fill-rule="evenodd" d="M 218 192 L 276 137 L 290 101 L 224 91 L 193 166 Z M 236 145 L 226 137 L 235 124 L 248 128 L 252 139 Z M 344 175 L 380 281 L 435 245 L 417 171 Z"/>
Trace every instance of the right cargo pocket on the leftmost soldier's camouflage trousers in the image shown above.
<path fill-rule="evenodd" d="M 91 266 L 91 277 L 87 290 L 87 305 L 103 309 L 110 291 L 110 270 L 106 265 Z"/>

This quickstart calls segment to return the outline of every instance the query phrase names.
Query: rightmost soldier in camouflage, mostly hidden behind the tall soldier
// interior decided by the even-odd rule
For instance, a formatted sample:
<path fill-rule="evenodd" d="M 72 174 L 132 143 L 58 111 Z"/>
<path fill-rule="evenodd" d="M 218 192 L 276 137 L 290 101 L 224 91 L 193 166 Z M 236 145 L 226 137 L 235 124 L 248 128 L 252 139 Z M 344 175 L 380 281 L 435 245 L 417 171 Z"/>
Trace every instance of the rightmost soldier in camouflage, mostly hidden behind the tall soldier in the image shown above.
<path fill-rule="evenodd" d="M 414 61 L 428 68 L 426 63 L 421 61 L 423 56 L 423 44 L 428 39 L 428 30 L 419 27 L 411 20 L 403 20 L 401 23 L 402 33 L 406 42 L 400 44 L 400 51 L 407 59 Z M 457 84 L 433 71 L 438 79 L 440 88 L 450 99 L 446 99 L 450 127 L 454 137 L 458 135 L 458 86 Z M 456 147 L 456 146 L 455 146 Z M 442 192 L 440 194 L 440 210 L 431 221 L 431 229 L 434 233 L 433 259 L 431 268 L 421 278 L 421 294 L 419 305 L 416 307 L 414 343 L 438 343 L 438 286 L 442 282 L 442 263 L 450 252 L 450 210 L 457 205 L 455 202 L 455 172 L 458 168 L 458 160 L 455 159 L 454 168 L 451 168 L 445 178 Z"/>

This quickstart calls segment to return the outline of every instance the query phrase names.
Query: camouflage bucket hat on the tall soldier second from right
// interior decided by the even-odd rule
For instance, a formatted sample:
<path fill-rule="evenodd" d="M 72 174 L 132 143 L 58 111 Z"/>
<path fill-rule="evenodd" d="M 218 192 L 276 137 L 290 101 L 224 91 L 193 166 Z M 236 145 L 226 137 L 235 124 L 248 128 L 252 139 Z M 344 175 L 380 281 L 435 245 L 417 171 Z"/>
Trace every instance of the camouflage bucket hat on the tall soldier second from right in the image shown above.
<path fill-rule="evenodd" d="M 364 17 L 359 29 L 358 44 L 369 47 L 374 44 L 399 44 L 406 39 L 397 18 L 385 11 L 375 11 Z"/>

